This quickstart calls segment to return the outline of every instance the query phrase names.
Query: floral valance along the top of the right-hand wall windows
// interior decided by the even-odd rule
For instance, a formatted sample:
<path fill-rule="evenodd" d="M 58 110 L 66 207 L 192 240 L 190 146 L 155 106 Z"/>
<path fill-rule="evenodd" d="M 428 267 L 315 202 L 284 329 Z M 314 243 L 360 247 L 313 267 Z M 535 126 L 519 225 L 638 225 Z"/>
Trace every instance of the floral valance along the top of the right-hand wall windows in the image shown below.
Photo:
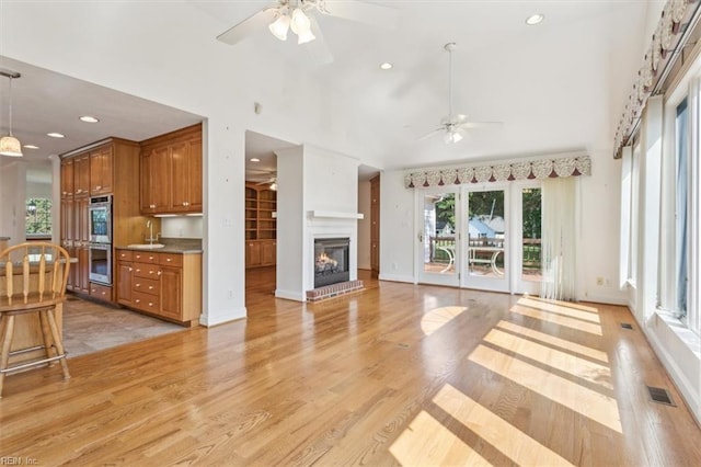
<path fill-rule="evenodd" d="M 665 77 L 664 71 L 675 60 L 674 50 L 683 45 L 680 42 L 686 29 L 681 25 L 689 23 L 700 4 L 698 0 L 667 0 L 618 124 L 613 141 L 613 158 L 621 158 L 621 149 L 633 136 L 647 98 L 658 84 L 662 84 L 659 81 Z"/>

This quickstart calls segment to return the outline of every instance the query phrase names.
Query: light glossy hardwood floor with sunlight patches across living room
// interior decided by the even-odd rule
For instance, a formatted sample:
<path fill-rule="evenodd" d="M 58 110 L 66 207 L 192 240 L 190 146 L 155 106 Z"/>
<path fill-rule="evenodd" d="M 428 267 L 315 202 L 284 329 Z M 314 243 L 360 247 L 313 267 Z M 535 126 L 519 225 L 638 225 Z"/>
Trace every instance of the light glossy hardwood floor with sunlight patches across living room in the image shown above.
<path fill-rule="evenodd" d="M 5 380 L 0 457 L 41 465 L 701 465 L 625 308 L 378 283 Z M 651 402 L 668 388 L 678 407 Z M 24 463 L 26 465 L 26 462 Z"/>

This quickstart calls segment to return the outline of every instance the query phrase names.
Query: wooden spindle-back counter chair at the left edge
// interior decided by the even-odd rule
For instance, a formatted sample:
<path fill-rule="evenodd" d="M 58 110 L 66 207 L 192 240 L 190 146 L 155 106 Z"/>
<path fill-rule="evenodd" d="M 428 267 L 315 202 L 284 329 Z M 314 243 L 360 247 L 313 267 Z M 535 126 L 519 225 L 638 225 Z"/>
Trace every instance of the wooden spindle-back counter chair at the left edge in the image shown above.
<path fill-rule="evenodd" d="M 66 300 L 70 257 L 58 244 L 27 242 L 0 252 L 0 398 L 8 373 L 59 361 L 70 378 L 55 310 Z M 37 314 L 43 345 L 12 352 L 15 317 Z M 9 366 L 10 356 L 45 350 L 46 356 Z"/>

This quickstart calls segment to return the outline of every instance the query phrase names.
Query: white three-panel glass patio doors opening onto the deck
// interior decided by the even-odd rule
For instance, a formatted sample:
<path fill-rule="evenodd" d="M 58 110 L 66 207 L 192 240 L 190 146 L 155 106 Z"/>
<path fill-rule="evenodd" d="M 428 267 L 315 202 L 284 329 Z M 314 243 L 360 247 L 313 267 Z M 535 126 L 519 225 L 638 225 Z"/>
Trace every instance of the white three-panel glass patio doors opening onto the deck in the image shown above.
<path fill-rule="evenodd" d="M 418 283 L 537 294 L 540 182 L 416 191 Z"/>

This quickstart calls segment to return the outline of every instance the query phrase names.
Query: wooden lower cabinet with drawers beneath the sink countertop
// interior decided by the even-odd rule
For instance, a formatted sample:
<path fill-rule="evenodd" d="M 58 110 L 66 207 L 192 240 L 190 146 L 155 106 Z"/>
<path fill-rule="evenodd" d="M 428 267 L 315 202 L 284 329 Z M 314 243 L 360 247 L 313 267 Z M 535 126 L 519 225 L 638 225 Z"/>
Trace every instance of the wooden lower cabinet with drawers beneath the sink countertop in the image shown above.
<path fill-rule="evenodd" d="M 202 254 L 117 249 L 117 303 L 195 326 L 202 312 Z"/>

